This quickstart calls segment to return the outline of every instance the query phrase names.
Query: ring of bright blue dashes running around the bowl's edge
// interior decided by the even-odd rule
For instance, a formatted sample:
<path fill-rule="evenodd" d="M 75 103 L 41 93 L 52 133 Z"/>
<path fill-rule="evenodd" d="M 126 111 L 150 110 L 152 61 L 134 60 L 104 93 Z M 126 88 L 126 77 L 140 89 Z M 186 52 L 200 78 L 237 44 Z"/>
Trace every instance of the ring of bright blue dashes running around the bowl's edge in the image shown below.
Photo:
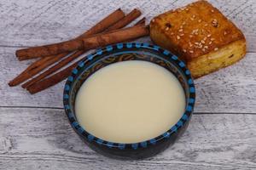
<path fill-rule="evenodd" d="M 71 122 L 73 128 L 77 131 L 77 133 L 80 133 L 81 135 L 84 135 L 84 137 L 86 137 L 86 139 L 88 139 L 89 142 L 95 142 L 96 144 L 100 144 L 100 145 L 106 145 L 109 148 L 119 148 L 120 150 L 124 150 L 126 145 L 127 147 L 131 147 L 134 150 L 137 150 L 137 148 L 142 147 L 142 148 L 146 148 L 148 147 L 148 144 L 156 144 L 158 141 L 160 141 L 161 139 L 166 139 L 169 138 L 170 135 L 172 133 L 176 133 L 177 130 L 180 127 L 183 127 L 183 125 L 185 124 L 185 122 L 187 122 L 189 120 L 189 115 L 192 113 L 193 111 L 193 107 L 195 104 L 195 86 L 194 86 L 194 82 L 192 80 L 192 78 L 190 77 L 190 71 L 186 68 L 186 65 L 183 63 L 183 61 L 179 60 L 177 58 L 176 55 L 173 55 L 170 51 L 162 49 L 158 46 L 151 46 L 148 43 L 118 43 L 116 45 L 108 45 L 106 48 L 102 48 L 96 51 L 95 54 L 89 54 L 86 58 L 91 60 L 94 59 L 94 57 L 96 57 L 97 55 L 101 55 L 107 52 L 111 52 L 113 51 L 113 49 L 122 49 L 122 48 L 149 48 L 152 49 L 154 51 L 158 51 L 166 56 L 169 56 L 169 59 L 172 59 L 173 61 L 177 62 L 177 65 L 183 69 L 184 74 L 188 77 L 188 84 L 189 84 L 189 93 L 193 94 L 192 96 L 194 96 L 193 98 L 189 98 L 189 102 L 186 107 L 186 111 L 183 114 L 183 116 L 181 117 L 181 119 L 177 122 L 176 125 L 172 126 L 166 133 L 161 134 L 159 137 L 154 138 L 154 139 L 150 139 L 147 141 L 143 141 L 139 144 L 134 143 L 134 144 L 119 144 L 119 143 L 112 143 L 112 142 L 108 142 L 105 141 L 103 139 L 98 139 L 95 136 L 93 136 L 90 133 L 87 133 L 83 127 L 79 126 L 79 122 L 76 122 L 74 119 L 74 115 L 73 112 L 71 111 L 70 105 L 68 100 L 69 100 L 69 91 L 70 91 L 70 85 L 71 83 L 73 83 L 74 77 L 79 73 L 79 69 L 82 69 L 84 67 L 84 61 L 80 61 L 79 62 L 79 67 L 75 68 L 73 70 L 73 75 L 67 78 L 67 83 L 65 85 L 65 91 L 63 94 L 63 100 L 64 100 L 64 107 L 65 110 L 67 111 L 67 116 L 69 118 L 69 121 Z"/>

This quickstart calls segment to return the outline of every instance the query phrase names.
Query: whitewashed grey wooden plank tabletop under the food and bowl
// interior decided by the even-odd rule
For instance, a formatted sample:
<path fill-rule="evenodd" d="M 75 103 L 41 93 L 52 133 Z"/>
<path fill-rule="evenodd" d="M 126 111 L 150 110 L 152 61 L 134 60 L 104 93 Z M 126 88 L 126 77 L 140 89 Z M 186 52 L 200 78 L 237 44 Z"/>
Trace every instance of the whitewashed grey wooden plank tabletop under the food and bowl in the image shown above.
<path fill-rule="evenodd" d="M 236 65 L 195 81 L 195 115 L 183 137 L 158 156 L 118 161 L 90 150 L 62 109 L 64 82 L 30 95 L 7 82 L 32 61 L 15 50 L 76 37 L 116 8 L 154 15 L 190 0 L 0 1 L 0 169 L 256 169 L 256 3 L 211 0 L 247 37 Z M 141 42 L 148 42 L 143 38 Z"/>

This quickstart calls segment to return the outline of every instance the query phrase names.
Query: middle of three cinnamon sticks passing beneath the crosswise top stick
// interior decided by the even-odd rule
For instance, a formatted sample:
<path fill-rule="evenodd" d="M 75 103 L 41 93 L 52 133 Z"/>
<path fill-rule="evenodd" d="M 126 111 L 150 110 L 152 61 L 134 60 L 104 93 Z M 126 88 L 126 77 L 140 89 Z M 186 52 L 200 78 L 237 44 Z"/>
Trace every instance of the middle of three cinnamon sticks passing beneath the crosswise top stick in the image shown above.
<path fill-rule="evenodd" d="M 131 23 L 132 20 L 137 19 L 137 17 L 139 17 L 140 15 L 141 15 L 141 12 L 137 8 L 133 9 L 131 11 L 131 13 L 129 13 L 129 14 L 127 14 L 125 16 L 125 18 L 123 18 L 122 20 L 119 20 L 119 22 L 117 22 L 113 26 L 110 26 L 108 28 L 108 33 L 113 31 L 113 30 L 116 30 L 116 29 L 119 29 L 119 28 L 127 26 L 128 24 Z M 139 22 L 137 22 L 136 25 L 142 24 L 142 23 L 143 23 L 143 19 L 140 20 Z M 97 35 L 100 35 L 100 34 L 97 34 Z M 65 65 L 69 64 L 70 62 L 72 62 L 73 59 L 77 59 L 81 54 L 84 54 L 86 51 L 87 50 L 79 50 L 79 51 L 75 52 L 74 54 L 71 54 L 66 59 L 62 59 L 59 63 L 57 63 L 56 65 L 50 67 L 47 71 L 44 71 L 42 74 L 40 74 L 37 77 L 32 78 L 30 81 L 24 83 L 21 87 L 22 88 L 28 88 L 33 83 L 38 82 L 38 81 L 42 80 L 44 77 L 49 76 L 53 72 L 60 70 L 63 66 L 65 66 Z"/>

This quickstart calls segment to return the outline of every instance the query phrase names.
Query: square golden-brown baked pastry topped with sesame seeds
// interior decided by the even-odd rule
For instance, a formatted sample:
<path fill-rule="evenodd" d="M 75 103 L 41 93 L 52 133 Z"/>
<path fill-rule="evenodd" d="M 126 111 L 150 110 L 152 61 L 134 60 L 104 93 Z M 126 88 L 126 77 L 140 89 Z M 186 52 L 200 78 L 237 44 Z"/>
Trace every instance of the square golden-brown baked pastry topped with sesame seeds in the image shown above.
<path fill-rule="evenodd" d="M 246 54 L 242 32 L 207 1 L 154 17 L 150 37 L 180 56 L 195 78 L 232 65 Z"/>

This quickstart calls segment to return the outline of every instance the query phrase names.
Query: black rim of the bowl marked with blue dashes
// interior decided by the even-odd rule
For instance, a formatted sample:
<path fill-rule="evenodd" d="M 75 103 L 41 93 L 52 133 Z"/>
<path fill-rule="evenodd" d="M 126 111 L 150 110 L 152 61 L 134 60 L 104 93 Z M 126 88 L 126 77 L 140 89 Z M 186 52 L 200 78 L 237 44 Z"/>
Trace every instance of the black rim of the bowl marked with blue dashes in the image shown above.
<path fill-rule="evenodd" d="M 84 130 L 84 127 L 81 127 L 79 125 L 79 122 L 75 118 L 75 114 L 71 110 L 70 107 L 70 90 L 72 89 L 71 87 L 73 86 L 73 81 L 75 78 L 78 77 L 78 69 L 82 69 L 84 67 L 85 62 L 90 62 L 91 59 L 95 58 L 96 56 L 101 56 L 102 54 L 106 53 L 115 53 L 115 49 L 122 49 L 126 50 L 128 48 L 147 48 L 149 50 L 153 50 L 154 52 L 164 54 L 166 57 L 168 57 L 168 60 L 171 62 L 174 62 L 177 66 L 177 68 L 183 72 L 183 76 L 186 77 L 187 80 L 187 85 L 189 87 L 189 98 L 186 98 L 186 108 L 183 113 L 183 116 L 177 121 L 175 125 L 173 125 L 171 128 L 169 128 L 165 133 L 160 134 L 157 137 L 154 137 L 153 139 L 148 139 L 142 142 L 138 143 L 115 143 L 115 142 L 110 142 L 104 139 L 100 139 L 86 130 Z M 131 49 L 128 49 L 131 51 Z M 150 51 L 149 51 L 150 53 Z M 105 48 L 101 48 L 96 50 L 95 53 L 87 55 L 82 61 L 79 62 L 79 65 L 77 65 L 76 68 L 73 69 L 72 74 L 67 78 L 67 82 L 64 87 L 64 92 L 63 92 L 63 105 L 64 109 L 68 118 L 68 121 L 70 122 L 71 126 L 75 130 L 76 133 L 79 134 L 79 136 L 82 136 L 83 139 L 87 140 L 88 142 L 92 143 L 94 142 L 95 144 L 98 145 L 103 145 L 108 148 L 119 148 L 120 150 L 124 150 L 125 148 L 132 148 L 134 150 L 137 150 L 138 148 L 147 148 L 148 145 L 150 144 L 157 144 L 163 139 L 168 139 L 173 133 L 177 133 L 177 130 L 179 130 L 181 127 L 186 122 L 189 122 L 189 118 L 193 114 L 194 106 L 195 106 L 195 84 L 193 82 L 193 78 L 191 77 L 189 69 L 186 67 L 186 65 L 183 63 L 181 59 L 178 59 L 178 57 L 174 54 L 172 54 L 170 51 L 160 48 L 159 46 L 156 45 L 150 45 L 149 43 L 141 43 L 141 42 L 125 42 L 125 43 L 117 43 L 114 45 L 108 45 Z"/>

